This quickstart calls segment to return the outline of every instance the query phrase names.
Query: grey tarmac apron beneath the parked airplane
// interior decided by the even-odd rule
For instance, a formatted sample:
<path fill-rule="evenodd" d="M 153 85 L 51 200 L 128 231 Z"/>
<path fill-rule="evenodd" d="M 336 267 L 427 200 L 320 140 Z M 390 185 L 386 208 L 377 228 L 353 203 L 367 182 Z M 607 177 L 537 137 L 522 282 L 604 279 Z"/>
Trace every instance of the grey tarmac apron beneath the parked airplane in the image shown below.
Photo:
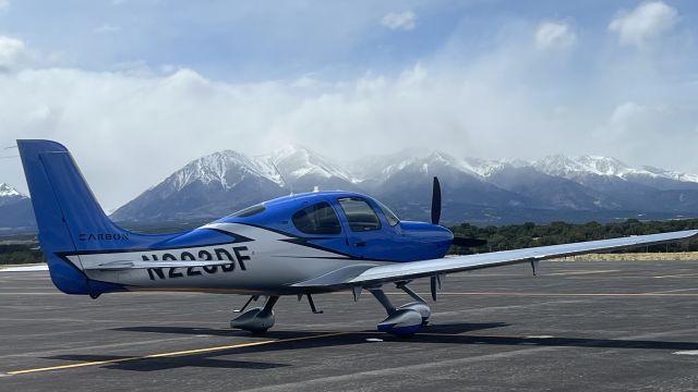
<path fill-rule="evenodd" d="M 428 297 L 425 283 L 412 287 Z M 385 311 L 366 292 L 314 299 L 324 314 L 282 297 L 274 329 L 252 335 L 228 328 L 245 297 L 93 301 L 47 272 L 0 272 L 0 391 L 698 390 L 698 261 L 448 275 L 410 339 L 375 331 Z"/>

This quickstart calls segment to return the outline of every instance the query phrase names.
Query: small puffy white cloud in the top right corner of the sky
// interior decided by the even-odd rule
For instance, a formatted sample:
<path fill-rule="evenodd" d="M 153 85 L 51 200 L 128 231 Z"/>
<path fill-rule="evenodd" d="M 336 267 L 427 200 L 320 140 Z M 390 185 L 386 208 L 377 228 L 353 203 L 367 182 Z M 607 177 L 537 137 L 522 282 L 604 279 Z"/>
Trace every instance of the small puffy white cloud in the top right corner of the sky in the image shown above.
<path fill-rule="evenodd" d="M 650 39 L 671 30 L 677 22 L 676 9 L 662 1 L 651 1 L 621 13 L 611 21 L 609 29 L 618 34 L 621 45 L 642 48 Z"/>

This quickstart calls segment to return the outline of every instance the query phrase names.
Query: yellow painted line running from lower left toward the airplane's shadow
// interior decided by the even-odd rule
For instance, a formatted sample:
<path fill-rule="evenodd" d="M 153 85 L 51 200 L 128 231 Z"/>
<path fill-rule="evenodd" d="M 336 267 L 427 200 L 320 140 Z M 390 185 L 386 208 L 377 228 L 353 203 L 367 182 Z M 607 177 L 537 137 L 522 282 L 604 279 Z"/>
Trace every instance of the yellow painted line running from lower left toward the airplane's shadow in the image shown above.
<path fill-rule="evenodd" d="M 40 371 L 65 370 L 65 369 L 74 369 L 74 368 L 88 367 L 88 366 L 120 364 L 120 363 L 134 362 L 134 360 L 141 360 L 141 359 L 165 358 L 165 357 L 174 357 L 174 356 L 181 356 L 181 355 L 213 353 L 213 352 L 219 352 L 219 351 L 226 351 L 226 350 L 232 350 L 232 348 L 253 347 L 253 346 L 265 345 L 265 344 L 287 343 L 287 342 L 297 342 L 297 341 L 311 340 L 311 339 L 337 336 L 337 335 L 342 335 L 342 334 L 348 334 L 348 333 L 351 333 L 351 332 L 333 332 L 333 333 L 316 334 L 316 335 L 312 335 L 312 336 L 300 336 L 300 338 L 289 338 L 289 339 L 279 339 L 279 340 L 268 340 L 268 341 L 261 341 L 261 342 L 229 344 L 229 345 L 221 345 L 221 346 L 215 346 L 215 347 L 205 347 L 205 348 L 194 348 L 194 350 L 185 350 L 185 351 L 179 351 L 179 352 L 149 354 L 149 355 L 132 356 L 132 357 L 118 358 L 118 359 L 92 360 L 92 362 L 84 362 L 84 363 L 70 364 L 70 365 L 59 365 L 59 366 L 49 366 L 49 367 L 35 368 L 35 369 L 13 370 L 13 371 L 5 372 L 5 375 L 16 376 L 16 375 L 26 375 L 26 373 L 40 372 Z"/>

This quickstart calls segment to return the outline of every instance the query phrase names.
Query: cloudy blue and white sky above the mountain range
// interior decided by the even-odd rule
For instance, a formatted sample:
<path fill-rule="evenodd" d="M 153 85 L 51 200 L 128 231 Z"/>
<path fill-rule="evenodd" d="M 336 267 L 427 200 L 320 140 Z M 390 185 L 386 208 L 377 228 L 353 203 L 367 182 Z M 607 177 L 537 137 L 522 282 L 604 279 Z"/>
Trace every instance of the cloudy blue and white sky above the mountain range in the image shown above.
<path fill-rule="evenodd" d="M 693 0 L 0 0 L 0 157 L 59 140 L 106 209 L 288 143 L 696 173 L 697 28 Z"/>

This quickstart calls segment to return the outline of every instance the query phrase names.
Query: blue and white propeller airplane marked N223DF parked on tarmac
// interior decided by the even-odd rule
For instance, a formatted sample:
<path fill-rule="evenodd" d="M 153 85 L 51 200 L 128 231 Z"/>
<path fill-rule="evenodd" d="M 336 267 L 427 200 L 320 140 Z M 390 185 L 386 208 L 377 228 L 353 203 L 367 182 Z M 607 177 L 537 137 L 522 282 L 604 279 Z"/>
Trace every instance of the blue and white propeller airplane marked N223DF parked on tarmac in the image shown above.
<path fill-rule="evenodd" d="M 89 295 L 135 291 L 196 291 L 249 295 L 230 327 L 263 333 L 275 323 L 280 296 L 370 292 L 387 317 L 377 330 L 409 336 L 430 321 L 431 308 L 410 282 L 430 279 L 436 301 L 454 272 L 531 264 L 698 237 L 698 230 L 446 256 L 452 245 L 477 246 L 438 224 L 441 185 L 434 179 L 432 222 L 402 221 L 378 200 L 356 192 L 279 197 L 177 234 L 124 230 L 103 211 L 69 150 L 51 140 L 17 140 L 53 284 Z M 395 306 L 395 286 L 413 301 Z M 246 309 L 265 297 L 263 306 Z M 245 310 L 246 309 L 246 310 Z"/>

